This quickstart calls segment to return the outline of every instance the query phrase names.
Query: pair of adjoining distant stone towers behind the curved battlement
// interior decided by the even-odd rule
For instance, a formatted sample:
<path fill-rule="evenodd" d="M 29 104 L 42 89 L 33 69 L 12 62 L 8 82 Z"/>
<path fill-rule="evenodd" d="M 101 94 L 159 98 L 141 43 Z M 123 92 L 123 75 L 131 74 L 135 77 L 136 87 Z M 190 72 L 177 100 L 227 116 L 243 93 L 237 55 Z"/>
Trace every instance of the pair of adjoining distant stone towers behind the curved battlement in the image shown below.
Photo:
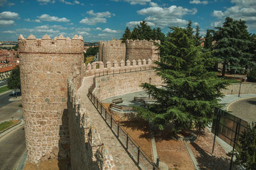
<path fill-rule="evenodd" d="M 157 47 L 154 43 L 160 43 L 159 40 L 115 40 L 108 42 L 99 42 L 99 61 L 103 63 L 114 61 L 132 61 L 138 59 L 159 59 Z"/>

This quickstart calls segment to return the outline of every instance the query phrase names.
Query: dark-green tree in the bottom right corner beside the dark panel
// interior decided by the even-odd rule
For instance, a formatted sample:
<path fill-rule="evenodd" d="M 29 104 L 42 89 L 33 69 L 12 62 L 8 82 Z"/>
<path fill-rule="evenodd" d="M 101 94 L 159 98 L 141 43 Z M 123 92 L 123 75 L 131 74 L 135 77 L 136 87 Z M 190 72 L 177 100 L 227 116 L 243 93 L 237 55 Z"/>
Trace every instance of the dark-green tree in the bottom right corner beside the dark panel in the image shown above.
<path fill-rule="evenodd" d="M 248 127 L 239 136 L 236 144 L 235 164 L 246 169 L 256 169 L 256 127 Z"/>

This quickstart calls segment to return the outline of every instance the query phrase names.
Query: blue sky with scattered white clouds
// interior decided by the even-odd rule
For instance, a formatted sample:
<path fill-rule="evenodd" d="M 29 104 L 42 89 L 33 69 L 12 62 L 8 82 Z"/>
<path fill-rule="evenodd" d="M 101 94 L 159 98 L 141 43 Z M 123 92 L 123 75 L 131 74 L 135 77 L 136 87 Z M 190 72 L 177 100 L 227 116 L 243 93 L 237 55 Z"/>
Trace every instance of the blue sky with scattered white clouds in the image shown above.
<path fill-rule="evenodd" d="M 250 33 L 256 33 L 256 0 L 0 0 L 0 41 L 17 41 L 19 34 L 118 39 L 126 26 L 132 29 L 141 20 L 164 33 L 192 20 L 205 35 L 227 16 L 246 20 Z"/>

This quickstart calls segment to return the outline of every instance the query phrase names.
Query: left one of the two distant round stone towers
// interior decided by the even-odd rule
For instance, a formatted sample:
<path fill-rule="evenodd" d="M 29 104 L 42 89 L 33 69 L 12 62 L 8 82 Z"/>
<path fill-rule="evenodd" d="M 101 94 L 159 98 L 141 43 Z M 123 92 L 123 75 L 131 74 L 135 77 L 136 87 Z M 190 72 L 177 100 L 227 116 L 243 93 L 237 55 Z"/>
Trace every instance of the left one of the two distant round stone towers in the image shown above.
<path fill-rule="evenodd" d="M 121 40 L 115 39 L 104 42 L 102 43 L 102 52 L 100 52 L 99 48 L 99 54 L 103 63 L 125 60 L 125 44 Z"/>

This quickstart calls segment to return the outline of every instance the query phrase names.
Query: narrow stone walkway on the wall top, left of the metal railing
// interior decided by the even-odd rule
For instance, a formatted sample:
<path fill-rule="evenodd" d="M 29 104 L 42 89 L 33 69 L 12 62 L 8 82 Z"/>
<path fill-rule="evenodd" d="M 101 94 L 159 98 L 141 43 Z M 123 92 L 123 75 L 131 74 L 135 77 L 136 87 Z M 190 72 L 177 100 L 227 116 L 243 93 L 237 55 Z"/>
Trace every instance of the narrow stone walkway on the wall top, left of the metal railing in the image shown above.
<path fill-rule="evenodd" d="M 117 169 L 138 169 L 122 145 L 116 139 L 113 132 L 102 119 L 99 112 L 95 109 L 90 99 L 87 97 L 88 88 L 93 83 L 92 77 L 84 77 L 81 88 L 77 91 L 77 95 L 81 98 L 81 101 L 85 104 L 88 116 L 91 118 L 93 125 L 97 128 L 102 142 L 107 146 L 109 152 L 113 156 Z"/>

